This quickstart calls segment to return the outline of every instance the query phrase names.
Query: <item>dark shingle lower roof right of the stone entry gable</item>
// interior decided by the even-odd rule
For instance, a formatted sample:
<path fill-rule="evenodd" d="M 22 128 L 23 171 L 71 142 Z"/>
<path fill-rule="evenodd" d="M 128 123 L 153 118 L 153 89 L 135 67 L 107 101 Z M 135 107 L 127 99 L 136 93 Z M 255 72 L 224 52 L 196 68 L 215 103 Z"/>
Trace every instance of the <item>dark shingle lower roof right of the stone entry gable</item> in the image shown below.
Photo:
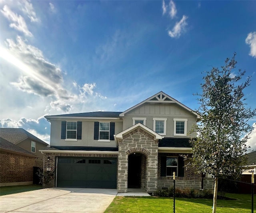
<path fill-rule="evenodd" d="M 158 147 L 192 147 L 189 138 L 164 137 L 158 141 Z"/>

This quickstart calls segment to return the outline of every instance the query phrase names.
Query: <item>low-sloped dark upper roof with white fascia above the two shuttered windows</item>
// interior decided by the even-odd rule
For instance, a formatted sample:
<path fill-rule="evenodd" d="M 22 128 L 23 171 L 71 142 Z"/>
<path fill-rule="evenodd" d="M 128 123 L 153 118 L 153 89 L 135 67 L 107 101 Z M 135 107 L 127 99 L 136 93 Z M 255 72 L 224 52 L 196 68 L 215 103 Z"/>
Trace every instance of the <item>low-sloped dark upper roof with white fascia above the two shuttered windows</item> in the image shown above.
<path fill-rule="evenodd" d="M 47 115 L 44 116 L 46 119 L 51 118 L 94 118 L 94 117 L 104 117 L 104 118 L 118 118 L 120 111 L 94 111 L 94 112 L 83 112 L 83 113 L 72 113 L 72 114 L 62 114 L 62 115 Z"/>

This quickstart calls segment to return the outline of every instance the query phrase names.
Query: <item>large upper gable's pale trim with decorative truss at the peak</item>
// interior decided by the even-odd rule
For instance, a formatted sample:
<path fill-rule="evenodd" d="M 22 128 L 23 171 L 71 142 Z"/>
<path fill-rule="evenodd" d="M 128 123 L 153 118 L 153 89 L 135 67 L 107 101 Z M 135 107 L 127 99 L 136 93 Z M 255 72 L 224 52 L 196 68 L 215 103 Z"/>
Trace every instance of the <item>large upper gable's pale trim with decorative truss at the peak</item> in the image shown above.
<path fill-rule="evenodd" d="M 151 96 L 150 98 L 144 100 L 143 102 L 140 102 L 139 104 L 131 107 L 130 109 L 127 109 L 126 111 L 120 113 L 120 117 L 123 117 L 126 113 L 128 113 L 129 111 L 141 106 L 142 104 L 145 103 L 174 103 L 177 104 L 178 106 L 186 109 L 187 111 L 190 111 L 191 113 L 193 113 L 194 115 L 196 115 L 197 119 L 200 119 L 200 116 L 198 115 L 198 113 L 194 112 L 192 109 L 188 108 L 187 106 L 185 106 L 184 104 L 178 102 L 176 99 L 168 96 L 167 94 L 165 94 L 164 92 L 160 91 L 157 94 L 155 94 L 154 96 Z"/>

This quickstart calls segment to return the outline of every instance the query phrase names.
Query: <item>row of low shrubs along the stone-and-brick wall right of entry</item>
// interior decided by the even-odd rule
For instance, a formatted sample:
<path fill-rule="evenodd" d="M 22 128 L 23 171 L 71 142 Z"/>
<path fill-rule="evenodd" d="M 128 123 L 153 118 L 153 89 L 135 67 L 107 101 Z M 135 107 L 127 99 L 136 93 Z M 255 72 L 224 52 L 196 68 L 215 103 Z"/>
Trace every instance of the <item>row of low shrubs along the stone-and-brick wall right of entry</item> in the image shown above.
<path fill-rule="evenodd" d="M 156 190 L 153 195 L 159 197 L 173 197 L 173 188 Z M 175 197 L 186 197 L 186 198 L 212 198 L 213 194 L 211 190 L 195 190 L 195 189 L 175 189 Z"/>

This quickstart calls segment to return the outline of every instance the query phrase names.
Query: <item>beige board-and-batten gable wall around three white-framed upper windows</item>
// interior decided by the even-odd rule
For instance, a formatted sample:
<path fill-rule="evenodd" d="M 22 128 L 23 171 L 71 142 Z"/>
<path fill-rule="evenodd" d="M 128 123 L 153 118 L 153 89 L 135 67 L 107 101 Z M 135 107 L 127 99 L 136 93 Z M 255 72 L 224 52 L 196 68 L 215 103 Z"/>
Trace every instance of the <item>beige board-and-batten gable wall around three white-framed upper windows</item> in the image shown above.
<path fill-rule="evenodd" d="M 145 103 L 136 109 L 129 111 L 123 118 L 123 130 L 132 126 L 133 117 L 146 117 L 146 126 L 153 130 L 153 118 L 167 118 L 166 121 L 166 135 L 164 137 L 189 137 L 174 136 L 174 118 L 187 118 L 187 132 L 190 131 L 193 124 L 196 124 L 196 115 L 190 113 L 186 109 L 177 104 L 169 103 Z"/>

